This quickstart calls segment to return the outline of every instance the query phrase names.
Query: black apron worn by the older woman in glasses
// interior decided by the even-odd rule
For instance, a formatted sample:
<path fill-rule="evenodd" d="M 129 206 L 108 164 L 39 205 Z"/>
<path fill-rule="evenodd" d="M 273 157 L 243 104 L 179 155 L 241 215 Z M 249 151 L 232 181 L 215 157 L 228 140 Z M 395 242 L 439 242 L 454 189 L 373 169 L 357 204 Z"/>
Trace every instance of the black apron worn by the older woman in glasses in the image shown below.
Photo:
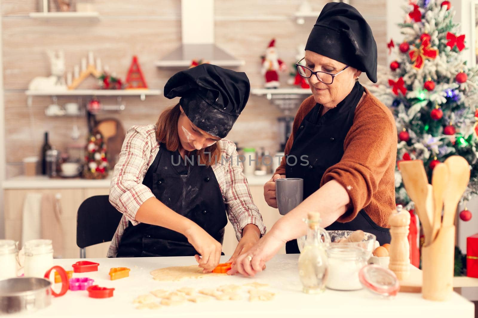
<path fill-rule="evenodd" d="M 295 133 L 294 141 L 287 158 L 285 175 L 287 178 L 304 179 L 304 199 L 313 194 L 320 187 L 325 171 L 337 164 L 344 154 L 345 137 L 352 127 L 355 108 L 362 97 L 364 89 L 359 82 L 348 96 L 337 107 L 320 116 L 321 106 L 315 107 L 307 113 L 299 129 Z M 301 160 L 301 156 L 308 161 Z M 296 164 L 294 164 L 297 162 Z M 362 209 L 350 222 L 334 222 L 326 230 L 363 230 L 377 236 L 380 244 L 390 243 L 388 228 L 378 226 Z M 297 240 L 285 245 L 287 254 L 299 253 Z"/>

